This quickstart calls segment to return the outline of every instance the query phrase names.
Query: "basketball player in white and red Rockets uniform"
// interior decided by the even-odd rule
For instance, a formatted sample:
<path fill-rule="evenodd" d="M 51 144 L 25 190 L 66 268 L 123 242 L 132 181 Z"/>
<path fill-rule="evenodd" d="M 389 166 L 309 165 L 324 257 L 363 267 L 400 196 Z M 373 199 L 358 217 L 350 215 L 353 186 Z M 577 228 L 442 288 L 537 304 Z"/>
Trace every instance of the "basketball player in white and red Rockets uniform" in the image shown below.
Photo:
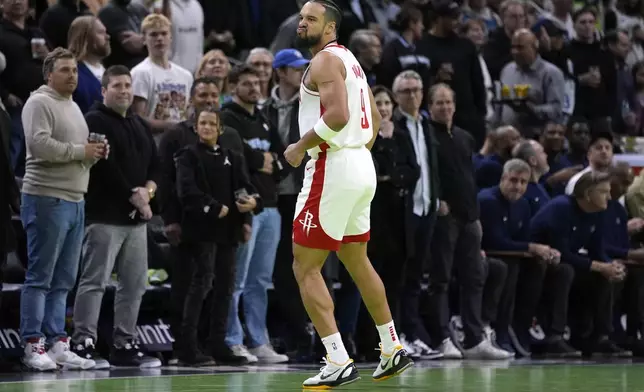
<path fill-rule="evenodd" d="M 336 43 L 341 11 L 330 0 L 310 0 L 300 12 L 297 39 L 313 54 L 300 87 L 301 139 L 287 147 L 286 160 L 302 163 L 304 184 L 293 221 L 293 270 L 304 306 L 322 337 L 326 365 L 303 384 L 327 389 L 360 379 L 333 317 L 333 301 L 320 273 L 336 251 L 356 282 L 381 340 L 377 381 L 413 365 L 392 321 L 382 280 L 367 257 L 369 210 L 376 191 L 371 158 L 380 115 L 358 60 Z"/>

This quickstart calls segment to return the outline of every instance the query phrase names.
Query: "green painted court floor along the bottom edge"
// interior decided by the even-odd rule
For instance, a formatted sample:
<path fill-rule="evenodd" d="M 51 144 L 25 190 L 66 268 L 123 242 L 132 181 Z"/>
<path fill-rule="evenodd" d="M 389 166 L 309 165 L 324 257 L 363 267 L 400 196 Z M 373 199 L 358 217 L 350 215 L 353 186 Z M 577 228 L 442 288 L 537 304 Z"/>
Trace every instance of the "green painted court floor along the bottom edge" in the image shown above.
<path fill-rule="evenodd" d="M 365 368 L 361 365 L 362 380 L 336 390 L 644 392 L 644 366 L 638 363 L 517 362 L 425 362 L 398 378 L 382 383 L 371 380 L 372 366 Z M 301 382 L 317 370 L 315 367 L 309 369 L 285 365 L 242 369 L 14 373 L 0 375 L 0 392 L 302 391 Z"/>

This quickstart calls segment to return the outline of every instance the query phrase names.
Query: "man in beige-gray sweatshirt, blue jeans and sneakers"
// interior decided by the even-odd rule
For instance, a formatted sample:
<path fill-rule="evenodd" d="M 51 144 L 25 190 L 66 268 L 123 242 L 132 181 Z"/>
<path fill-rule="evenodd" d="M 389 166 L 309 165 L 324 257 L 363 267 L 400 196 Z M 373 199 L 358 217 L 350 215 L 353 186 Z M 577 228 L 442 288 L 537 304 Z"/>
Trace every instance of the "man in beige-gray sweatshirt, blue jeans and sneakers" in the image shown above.
<path fill-rule="evenodd" d="M 78 83 L 72 53 L 52 51 L 43 74 L 47 84 L 31 94 L 22 112 L 27 161 L 20 215 L 29 256 L 20 301 L 22 361 L 38 371 L 57 365 L 90 369 L 94 361 L 70 350 L 65 315 L 80 261 L 89 169 L 109 147 L 87 142 L 87 124 L 72 100 Z"/>

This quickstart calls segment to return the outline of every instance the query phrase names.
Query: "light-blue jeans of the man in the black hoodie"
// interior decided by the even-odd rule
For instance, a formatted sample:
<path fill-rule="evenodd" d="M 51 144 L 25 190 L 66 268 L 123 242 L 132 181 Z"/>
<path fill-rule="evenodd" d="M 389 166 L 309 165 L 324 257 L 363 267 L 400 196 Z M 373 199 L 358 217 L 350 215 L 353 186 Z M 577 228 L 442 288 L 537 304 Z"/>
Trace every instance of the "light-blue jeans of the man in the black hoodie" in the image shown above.
<path fill-rule="evenodd" d="M 250 347 L 268 343 L 266 310 L 268 286 L 273 281 L 275 254 L 280 240 L 282 218 L 277 208 L 265 208 L 253 217 L 250 240 L 237 250 L 235 290 L 228 314 L 226 344 L 229 347 L 244 342 L 244 331 L 239 321 L 239 297 L 243 294 L 244 319 Z"/>

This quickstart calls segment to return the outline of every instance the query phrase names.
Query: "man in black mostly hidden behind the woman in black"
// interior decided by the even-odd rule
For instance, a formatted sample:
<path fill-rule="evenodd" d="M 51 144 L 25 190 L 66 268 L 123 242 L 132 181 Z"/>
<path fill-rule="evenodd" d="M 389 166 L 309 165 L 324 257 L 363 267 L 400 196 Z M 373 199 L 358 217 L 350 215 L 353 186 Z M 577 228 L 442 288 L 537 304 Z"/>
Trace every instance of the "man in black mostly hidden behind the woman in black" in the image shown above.
<path fill-rule="evenodd" d="M 174 127 L 164 132 L 159 142 L 159 156 L 161 160 L 161 217 L 165 224 L 164 233 L 168 242 L 172 246 L 171 259 L 174 267 L 172 269 L 172 294 L 171 308 L 172 332 L 175 335 L 175 341 L 181 340 L 181 322 L 183 317 L 183 305 L 190 285 L 192 269 L 186 268 L 184 263 L 192 255 L 190 249 L 181 241 L 181 205 L 177 197 L 176 185 L 176 168 L 174 163 L 175 154 L 191 144 L 199 141 L 195 129 L 196 119 L 194 113 L 199 112 L 207 107 L 219 107 L 219 88 L 217 81 L 211 78 L 199 78 L 194 81 L 190 89 L 190 103 L 192 115 L 186 121 L 176 124 Z M 218 143 L 220 146 L 229 150 L 243 154 L 242 141 L 237 130 L 223 126 L 223 132 L 219 136 Z M 205 318 L 204 318 L 205 320 Z M 228 347 L 223 343 L 226 334 L 226 320 L 211 320 L 208 333 L 209 342 L 207 343 L 208 354 L 211 354 L 217 363 L 239 365 L 246 363 L 243 357 L 234 356 Z"/>

